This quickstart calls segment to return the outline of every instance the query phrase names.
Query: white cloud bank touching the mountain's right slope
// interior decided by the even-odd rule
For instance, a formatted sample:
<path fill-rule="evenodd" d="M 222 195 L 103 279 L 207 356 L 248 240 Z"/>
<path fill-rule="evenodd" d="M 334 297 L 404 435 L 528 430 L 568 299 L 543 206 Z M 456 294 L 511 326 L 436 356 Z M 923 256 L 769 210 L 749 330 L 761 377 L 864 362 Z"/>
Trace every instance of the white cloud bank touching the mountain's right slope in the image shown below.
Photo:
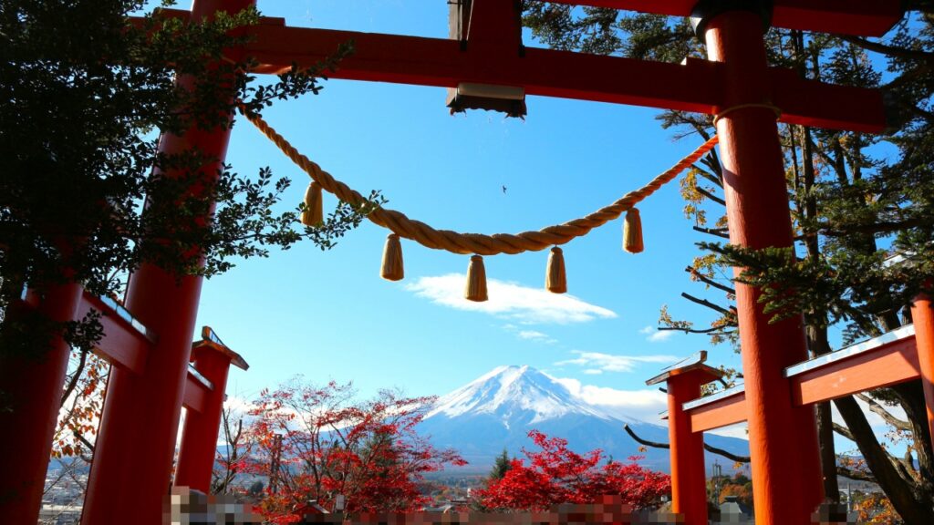
<path fill-rule="evenodd" d="M 594 404 L 619 419 L 638 419 L 665 424 L 658 414 L 668 408 L 668 396 L 658 390 L 616 390 L 607 387 L 582 385 L 577 379 L 554 377 L 571 391 L 573 396 L 587 404 Z"/>

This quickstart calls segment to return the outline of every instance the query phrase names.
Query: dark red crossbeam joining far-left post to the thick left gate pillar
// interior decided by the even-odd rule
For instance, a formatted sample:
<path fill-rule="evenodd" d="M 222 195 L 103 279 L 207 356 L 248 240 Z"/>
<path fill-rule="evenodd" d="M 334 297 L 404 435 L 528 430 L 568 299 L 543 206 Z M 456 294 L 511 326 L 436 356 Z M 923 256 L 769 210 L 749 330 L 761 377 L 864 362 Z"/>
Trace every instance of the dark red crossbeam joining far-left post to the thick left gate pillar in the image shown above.
<path fill-rule="evenodd" d="M 111 364 L 126 368 L 134 374 L 142 374 L 146 369 L 146 359 L 152 342 L 101 302 L 100 298 L 85 291 L 78 305 L 78 319 L 84 317 L 92 308 L 104 314 L 101 316 L 104 336 L 94 348 L 94 353 Z"/>

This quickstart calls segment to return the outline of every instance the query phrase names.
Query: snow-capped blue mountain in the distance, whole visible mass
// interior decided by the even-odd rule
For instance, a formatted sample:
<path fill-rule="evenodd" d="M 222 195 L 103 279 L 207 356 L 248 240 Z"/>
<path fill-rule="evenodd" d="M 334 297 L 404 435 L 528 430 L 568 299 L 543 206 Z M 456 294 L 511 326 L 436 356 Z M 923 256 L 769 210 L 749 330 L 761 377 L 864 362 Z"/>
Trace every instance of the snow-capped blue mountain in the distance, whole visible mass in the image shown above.
<path fill-rule="evenodd" d="M 465 468 L 478 472 L 486 472 L 503 448 L 510 456 L 524 458 L 522 447 L 535 449 L 528 437 L 533 429 L 567 439 L 578 453 L 601 448 L 605 456 L 618 461 L 643 456 L 640 463 L 644 466 L 668 471 L 668 450 L 640 451 L 623 424 L 629 424 L 644 439 L 668 442 L 665 426 L 610 414 L 528 365 L 500 366 L 439 397 L 419 424 L 418 433 L 429 436 L 435 447 L 460 451 L 470 463 Z M 749 443 L 743 439 L 711 434 L 704 439 L 729 452 L 749 453 Z M 707 464 L 715 458 L 708 454 Z"/>

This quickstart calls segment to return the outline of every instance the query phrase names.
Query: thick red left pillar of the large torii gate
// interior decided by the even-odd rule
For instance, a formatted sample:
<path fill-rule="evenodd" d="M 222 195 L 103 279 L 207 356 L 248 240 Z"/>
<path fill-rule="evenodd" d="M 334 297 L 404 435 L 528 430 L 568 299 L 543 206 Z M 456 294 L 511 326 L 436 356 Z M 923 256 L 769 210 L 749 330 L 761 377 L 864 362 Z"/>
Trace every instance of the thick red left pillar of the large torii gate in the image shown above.
<path fill-rule="evenodd" d="M 219 10 L 233 13 L 254 4 L 255 0 L 194 0 L 191 16 L 200 20 Z M 212 178 L 221 169 L 229 137 L 229 127 L 192 127 L 182 136 L 163 135 L 159 149 L 167 154 L 199 149 L 216 159 L 204 167 L 204 177 Z M 201 285 L 201 277 L 179 282 L 153 264 L 141 266 L 130 279 L 127 308 L 158 341 L 143 375 L 111 369 L 85 499 L 83 520 L 88 523 L 162 522 Z"/>

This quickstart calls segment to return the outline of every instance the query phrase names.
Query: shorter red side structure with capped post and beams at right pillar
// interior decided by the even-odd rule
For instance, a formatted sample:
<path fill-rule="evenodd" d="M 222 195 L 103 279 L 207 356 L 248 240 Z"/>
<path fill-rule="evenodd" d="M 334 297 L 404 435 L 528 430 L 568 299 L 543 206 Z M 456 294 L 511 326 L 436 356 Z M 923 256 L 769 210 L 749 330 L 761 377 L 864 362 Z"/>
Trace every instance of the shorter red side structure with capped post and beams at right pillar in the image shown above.
<path fill-rule="evenodd" d="M 915 298 L 912 318 L 911 325 L 786 367 L 783 375 L 792 403 L 810 406 L 920 379 L 927 428 L 934 436 L 934 309 L 926 295 Z M 664 382 L 667 387 L 668 411 L 663 417 L 669 420 L 672 503 L 675 512 L 684 513 L 686 523 L 707 520 L 703 433 L 752 417 L 742 384 L 701 397 L 701 386 L 722 376 L 704 364 L 706 357 L 700 352 L 645 382 Z"/>

